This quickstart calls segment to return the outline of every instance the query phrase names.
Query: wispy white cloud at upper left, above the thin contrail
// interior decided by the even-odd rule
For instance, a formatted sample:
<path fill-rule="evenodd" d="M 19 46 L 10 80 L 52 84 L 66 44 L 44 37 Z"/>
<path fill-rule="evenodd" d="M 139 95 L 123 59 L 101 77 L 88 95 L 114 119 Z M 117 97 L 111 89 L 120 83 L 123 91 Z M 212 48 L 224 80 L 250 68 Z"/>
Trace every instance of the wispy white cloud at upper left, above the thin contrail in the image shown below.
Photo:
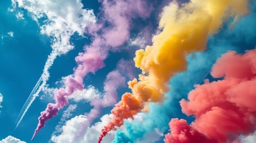
<path fill-rule="evenodd" d="M 40 23 L 40 18 L 47 18 L 41 25 L 41 33 L 53 38 L 52 48 L 59 54 L 65 54 L 73 48 L 70 37 L 78 32 L 83 35 L 85 26 L 95 22 L 92 10 L 83 9 L 81 0 L 12 0 L 30 13 Z"/>

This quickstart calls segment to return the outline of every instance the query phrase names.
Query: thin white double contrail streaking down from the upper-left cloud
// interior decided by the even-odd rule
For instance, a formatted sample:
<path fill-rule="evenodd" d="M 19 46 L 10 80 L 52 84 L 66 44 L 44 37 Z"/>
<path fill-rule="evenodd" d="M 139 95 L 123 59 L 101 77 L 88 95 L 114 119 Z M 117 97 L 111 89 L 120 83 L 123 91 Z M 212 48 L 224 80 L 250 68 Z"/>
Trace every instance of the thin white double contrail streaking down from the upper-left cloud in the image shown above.
<path fill-rule="evenodd" d="M 56 51 L 51 52 L 51 54 L 48 56 L 48 59 L 44 66 L 43 73 L 39 78 L 38 83 L 36 83 L 35 88 L 33 88 L 31 92 L 35 94 L 30 94 L 29 97 L 27 98 L 27 101 L 25 102 L 25 104 L 23 105 L 23 108 L 21 109 L 21 113 L 19 114 L 20 118 L 17 119 L 18 122 L 14 130 L 16 130 L 18 125 L 20 125 L 20 122 L 25 116 L 25 114 L 27 113 L 27 110 L 29 110 L 29 107 L 32 105 L 33 101 L 35 101 L 36 97 L 39 96 L 39 93 L 42 91 L 42 89 L 46 85 L 50 77 L 49 69 L 51 68 L 51 66 L 53 66 L 54 60 L 57 58 L 57 56 L 58 56 L 58 53 Z M 40 85 L 41 82 L 42 84 Z"/>

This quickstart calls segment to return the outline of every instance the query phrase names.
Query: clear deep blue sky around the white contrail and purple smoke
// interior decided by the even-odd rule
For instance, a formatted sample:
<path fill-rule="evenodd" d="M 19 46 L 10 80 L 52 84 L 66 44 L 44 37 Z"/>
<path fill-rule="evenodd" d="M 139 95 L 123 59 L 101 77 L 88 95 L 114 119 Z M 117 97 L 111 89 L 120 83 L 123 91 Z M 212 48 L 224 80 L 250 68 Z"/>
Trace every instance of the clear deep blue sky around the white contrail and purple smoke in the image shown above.
<path fill-rule="evenodd" d="M 85 8 L 93 9 L 95 14 L 98 13 L 100 3 L 97 1 L 82 1 L 82 3 Z M 23 13 L 23 18 L 17 18 L 18 11 L 10 11 L 13 9 L 11 1 L 1 1 L 0 5 L 0 17 L 2 19 L 0 22 L 0 35 L 4 36 L 1 39 L 0 45 L 0 74 L 4 75 L 0 78 L 0 91 L 4 97 L 4 102 L 1 103 L 3 108 L 1 108 L 0 114 L 0 139 L 12 135 L 22 141 L 29 142 L 38 123 L 40 112 L 45 109 L 48 102 L 53 102 L 53 99 L 47 97 L 49 95 L 45 95 L 43 100 L 37 98 L 27 111 L 26 116 L 24 116 L 18 128 L 14 131 L 15 123 L 18 113 L 20 113 L 24 102 L 41 76 L 45 61 L 51 53 L 51 38 L 40 33 L 40 27 L 32 19 L 32 15 L 26 10 L 20 10 Z M 8 35 L 8 32 L 13 32 L 13 37 Z M 85 33 L 85 36 L 88 35 Z M 54 66 L 49 70 L 51 73 L 51 77 L 47 82 L 49 88 L 58 87 L 56 82 L 60 81 L 61 77 L 73 73 L 73 68 L 76 67 L 75 57 L 78 55 L 78 52 L 83 51 L 84 45 L 90 43 L 90 39 L 82 38 L 75 33 L 71 37 L 70 42 L 74 44 L 75 49 L 58 57 L 54 61 Z M 136 49 L 137 47 L 133 46 L 131 48 Z M 135 49 L 131 49 L 132 52 Z M 105 61 L 106 66 L 98 70 L 97 73 L 89 74 L 85 77 L 85 84 L 93 85 L 99 91 L 103 91 L 103 82 L 107 73 L 115 69 L 119 60 L 131 60 L 134 57 L 134 53 L 132 52 L 127 50 L 124 52 L 110 53 L 109 58 Z M 122 88 L 119 92 L 122 94 L 125 91 L 128 91 L 128 89 Z M 39 95 L 42 96 L 44 93 L 41 92 Z M 87 102 L 74 104 L 78 104 L 78 108 L 72 117 L 90 111 L 91 107 Z M 47 126 L 42 129 L 42 132 L 32 142 L 49 141 L 64 110 L 61 110 L 59 116 L 54 117 L 53 120 L 48 122 Z M 109 113 L 110 110 L 111 108 L 107 108 L 103 111 L 103 114 Z M 95 120 L 95 122 L 98 121 L 99 119 Z M 26 131 L 24 132 L 24 130 Z"/>

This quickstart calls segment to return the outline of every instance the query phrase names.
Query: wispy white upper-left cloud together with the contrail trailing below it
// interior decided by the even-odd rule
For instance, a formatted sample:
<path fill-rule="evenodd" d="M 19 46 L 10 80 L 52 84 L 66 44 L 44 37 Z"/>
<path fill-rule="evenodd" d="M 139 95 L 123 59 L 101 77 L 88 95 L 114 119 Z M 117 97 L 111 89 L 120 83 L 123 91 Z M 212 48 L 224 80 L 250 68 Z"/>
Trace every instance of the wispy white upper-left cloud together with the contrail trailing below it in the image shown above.
<path fill-rule="evenodd" d="M 81 1 L 32 1 L 12 0 L 14 8 L 22 8 L 32 14 L 33 19 L 38 23 L 42 35 L 52 39 L 53 51 L 48 56 L 43 73 L 21 108 L 17 117 L 16 128 L 20 124 L 30 105 L 38 97 L 50 77 L 49 69 L 53 66 L 55 59 L 73 49 L 70 37 L 77 32 L 80 36 L 88 23 L 95 22 L 92 10 L 84 10 Z M 67 14 L 68 13 L 68 14 Z M 45 20 L 42 22 L 42 18 Z"/>

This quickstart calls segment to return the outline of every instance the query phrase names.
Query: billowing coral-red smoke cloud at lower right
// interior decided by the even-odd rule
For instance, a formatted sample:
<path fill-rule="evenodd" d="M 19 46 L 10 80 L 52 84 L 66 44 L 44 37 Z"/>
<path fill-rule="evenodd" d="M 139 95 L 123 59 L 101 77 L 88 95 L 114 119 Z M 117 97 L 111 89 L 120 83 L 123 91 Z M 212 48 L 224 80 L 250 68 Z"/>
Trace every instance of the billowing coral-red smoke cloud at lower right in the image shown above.
<path fill-rule="evenodd" d="M 172 119 L 171 133 L 165 142 L 235 142 L 240 135 L 256 129 L 256 49 L 245 54 L 228 52 L 212 68 L 211 75 L 223 80 L 206 82 L 189 93 L 189 101 L 181 100 L 183 113 L 194 115 L 195 122 Z M 185 132 L 186 129 L 193 132 Z"/>

